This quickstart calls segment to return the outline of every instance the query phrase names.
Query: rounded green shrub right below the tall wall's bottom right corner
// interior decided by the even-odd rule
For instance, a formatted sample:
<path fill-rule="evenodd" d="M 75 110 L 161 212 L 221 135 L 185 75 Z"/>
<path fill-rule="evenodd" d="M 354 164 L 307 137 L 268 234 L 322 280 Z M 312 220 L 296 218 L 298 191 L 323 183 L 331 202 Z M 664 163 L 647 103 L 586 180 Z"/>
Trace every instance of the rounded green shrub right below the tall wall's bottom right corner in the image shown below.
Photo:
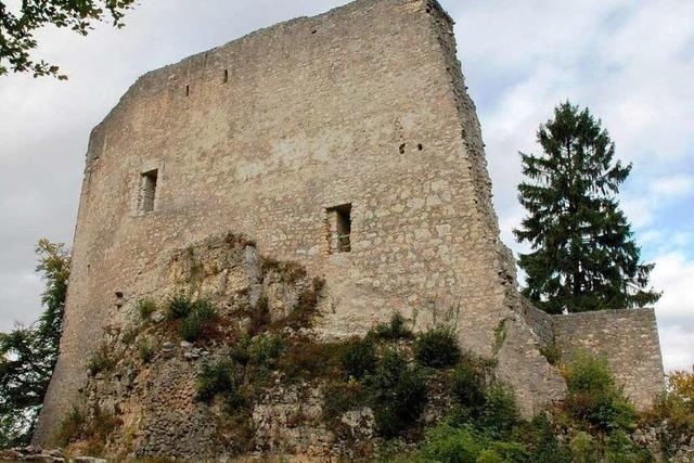
<path fill-rule="evenodd" d="M 493 383 L 485 395 L 477 425 L 496 438 L 505 438 L 518 420 L 513 390 L 501 383 Z"/>

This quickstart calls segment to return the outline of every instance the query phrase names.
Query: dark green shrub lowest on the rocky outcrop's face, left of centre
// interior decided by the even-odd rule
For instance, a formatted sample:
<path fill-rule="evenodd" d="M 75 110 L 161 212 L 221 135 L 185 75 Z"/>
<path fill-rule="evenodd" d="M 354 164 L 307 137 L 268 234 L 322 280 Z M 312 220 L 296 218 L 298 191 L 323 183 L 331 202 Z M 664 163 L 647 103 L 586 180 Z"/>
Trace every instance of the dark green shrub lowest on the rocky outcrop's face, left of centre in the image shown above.
<path fill-rule="evenodd" d="M 231 360 L 205 362 L 197 374 L 196 399 L 210 403 L 217 397 L 221 398 L 230 410 L 237 409 L 245 402 Z"/>

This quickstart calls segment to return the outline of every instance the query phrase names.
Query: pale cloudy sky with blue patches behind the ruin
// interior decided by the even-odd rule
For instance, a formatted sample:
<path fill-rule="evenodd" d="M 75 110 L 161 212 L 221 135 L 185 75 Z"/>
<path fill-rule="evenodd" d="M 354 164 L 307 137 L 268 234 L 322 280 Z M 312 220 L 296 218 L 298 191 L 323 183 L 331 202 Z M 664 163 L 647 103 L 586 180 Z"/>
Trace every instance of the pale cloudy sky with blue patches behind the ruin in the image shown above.
<path fill-rule="evenodd" d="M 20 0 L 10 0 L 16 8 Z M 69 81 L 0 78 L 0 330 L 30 322 L 34 245 L 72 243 L 90 129 L 141 74 L 338 0 L 140 0 L 127 27 L 42 30 L 40 56 Z M 442 0 L 477 104 L 504 241 L 523 217 L 517 151 L 569 99 L 602 118 L 653 283 L 666 369 L 694 363 L 694 2 Z"/>

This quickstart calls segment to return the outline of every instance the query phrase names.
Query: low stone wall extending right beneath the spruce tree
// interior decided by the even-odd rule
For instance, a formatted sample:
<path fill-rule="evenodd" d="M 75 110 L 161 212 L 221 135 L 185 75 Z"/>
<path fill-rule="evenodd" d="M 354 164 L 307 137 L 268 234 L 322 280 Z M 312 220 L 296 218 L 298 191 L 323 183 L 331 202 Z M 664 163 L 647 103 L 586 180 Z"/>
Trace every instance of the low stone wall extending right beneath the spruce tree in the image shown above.
<path fill-rule="evenodd" d="M 653 309 L 605 310 L 552 317 L 564 361 L 580 349 L 607 359 L 641 409 L 665 387 L 658 329 Z"/>

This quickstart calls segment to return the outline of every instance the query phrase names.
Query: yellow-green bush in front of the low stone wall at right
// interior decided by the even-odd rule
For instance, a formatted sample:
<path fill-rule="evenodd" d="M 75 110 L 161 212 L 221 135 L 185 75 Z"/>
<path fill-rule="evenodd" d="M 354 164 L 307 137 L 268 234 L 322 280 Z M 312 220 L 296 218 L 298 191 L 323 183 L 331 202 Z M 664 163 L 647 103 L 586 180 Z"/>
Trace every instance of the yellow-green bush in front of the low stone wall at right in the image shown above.
<path fill-rule="evenodd" d="M 632 429 L 635 409 L 617 387 L 607 361 L 578 352 L 565 373 L 568 386 L 566 404 L 579 420 L 605 430 Z"/>

